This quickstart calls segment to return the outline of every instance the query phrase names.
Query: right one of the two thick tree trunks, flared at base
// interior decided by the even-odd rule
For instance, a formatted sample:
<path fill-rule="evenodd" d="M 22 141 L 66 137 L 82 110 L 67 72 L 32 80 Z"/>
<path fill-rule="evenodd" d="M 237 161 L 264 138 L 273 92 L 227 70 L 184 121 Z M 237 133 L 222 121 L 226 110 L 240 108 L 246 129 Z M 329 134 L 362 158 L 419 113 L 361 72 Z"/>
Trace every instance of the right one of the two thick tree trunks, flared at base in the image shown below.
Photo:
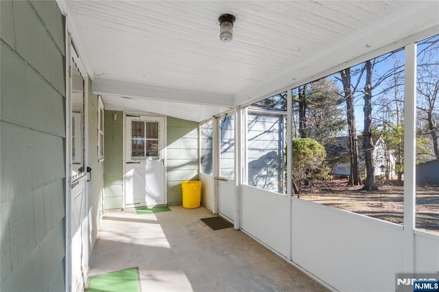
<path fill-rule="evenodd" d="M 373 163 L 374 145 L 372 141 L 372 62 L 366 61 L 366 86 L 364 86 L 364 159 L 366 162 L 366 181 L 364 191 L 378 191 L 375 184 L 375 167 Z"/>

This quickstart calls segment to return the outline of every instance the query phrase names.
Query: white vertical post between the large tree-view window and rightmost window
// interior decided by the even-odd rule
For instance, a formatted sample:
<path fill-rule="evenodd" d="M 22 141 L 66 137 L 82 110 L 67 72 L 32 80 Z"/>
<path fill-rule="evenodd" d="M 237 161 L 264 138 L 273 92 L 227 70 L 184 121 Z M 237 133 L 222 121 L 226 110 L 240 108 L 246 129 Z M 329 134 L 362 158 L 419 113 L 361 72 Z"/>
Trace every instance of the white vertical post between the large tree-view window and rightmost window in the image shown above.
<path fill-rule="evenodd" d="M 416 217 L 416 43 L 405 47 L 403 269 L 414 272 Z"/>

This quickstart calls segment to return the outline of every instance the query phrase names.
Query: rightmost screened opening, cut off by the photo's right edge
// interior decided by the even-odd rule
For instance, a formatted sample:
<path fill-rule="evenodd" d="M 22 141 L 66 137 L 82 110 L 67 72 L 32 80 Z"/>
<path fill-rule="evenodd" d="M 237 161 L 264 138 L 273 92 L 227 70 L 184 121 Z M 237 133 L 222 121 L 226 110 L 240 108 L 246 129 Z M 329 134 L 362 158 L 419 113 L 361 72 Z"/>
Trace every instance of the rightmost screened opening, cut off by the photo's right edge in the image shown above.
<path fill-rule="evenodd" d="M 439 35 L 417 52 L 416 228 L 439 234 Z"/>

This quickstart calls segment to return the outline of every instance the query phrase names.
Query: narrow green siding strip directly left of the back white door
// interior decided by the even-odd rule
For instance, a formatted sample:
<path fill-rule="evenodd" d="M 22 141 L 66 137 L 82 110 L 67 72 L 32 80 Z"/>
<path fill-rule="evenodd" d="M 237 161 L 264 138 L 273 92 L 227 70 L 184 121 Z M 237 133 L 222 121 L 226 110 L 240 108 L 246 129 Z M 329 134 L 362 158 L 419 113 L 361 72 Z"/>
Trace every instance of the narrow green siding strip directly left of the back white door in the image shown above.
<path fill-rule="evenodd" d="M 104 206 L 123 208 L 123 112 L 105 111 L 104 136 Z"/>

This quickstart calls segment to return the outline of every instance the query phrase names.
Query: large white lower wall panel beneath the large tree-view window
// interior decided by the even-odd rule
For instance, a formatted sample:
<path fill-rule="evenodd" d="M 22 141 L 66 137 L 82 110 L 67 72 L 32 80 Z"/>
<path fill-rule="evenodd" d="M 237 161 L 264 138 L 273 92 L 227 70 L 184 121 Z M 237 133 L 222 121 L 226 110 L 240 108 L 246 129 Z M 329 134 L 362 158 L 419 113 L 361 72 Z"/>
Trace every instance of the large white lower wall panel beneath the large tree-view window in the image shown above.
<path fill-rule="evenodd" d="M 393 291 L 403 227 L 293 198 L 292 261 L 340 291 Z"/>

